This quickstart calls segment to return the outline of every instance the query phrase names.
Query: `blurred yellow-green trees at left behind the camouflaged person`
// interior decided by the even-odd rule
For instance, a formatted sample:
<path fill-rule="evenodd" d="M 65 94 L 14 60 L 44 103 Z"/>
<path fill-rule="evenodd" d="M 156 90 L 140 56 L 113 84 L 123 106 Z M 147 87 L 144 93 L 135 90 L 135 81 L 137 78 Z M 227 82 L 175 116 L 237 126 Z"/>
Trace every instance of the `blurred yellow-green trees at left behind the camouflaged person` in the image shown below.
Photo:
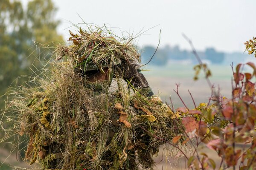
<path fill-rule="evenodd" d="M 34 70 L 42 66 L 51 53 L 44 47 L 63 42 L 56 31 L 60 22 L 54 20 L 52 0 L 32 0 L 24 9 L 18 0 L 0 1 L 0 94 L 17 76 L 31 74 L 32 64 Z"/>

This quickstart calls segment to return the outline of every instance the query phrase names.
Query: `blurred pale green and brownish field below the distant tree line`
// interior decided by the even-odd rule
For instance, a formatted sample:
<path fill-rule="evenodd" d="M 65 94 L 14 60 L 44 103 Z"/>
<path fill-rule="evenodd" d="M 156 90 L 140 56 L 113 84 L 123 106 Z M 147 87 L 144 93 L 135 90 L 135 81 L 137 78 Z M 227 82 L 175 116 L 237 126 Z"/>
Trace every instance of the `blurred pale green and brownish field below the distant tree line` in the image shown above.
<path fill-rule="evenodd" d="M 230 65 L 209 65 L 212 71 L 211 80 L 215 89 L 220 89 L 223 96 L 231 96 L 231 78 L 232 69 Z M 193 65 L 168 65 L 166 67 L 147 66 L 145 69 L 150 71 L 143 71 L 149 85 L 155 94 L 169 103 L 169 96 L 172 98 L 174 107 L 183 106 L 178 96 L 173 89 L 176 90 L 176 83 L 180 84 L 179 93 L 183 101 L 188 107 L 193 107 L 192 99 L 188 90 L 191 92 L 195 99 L 196 105 L 200 102 L 208 102 L 211 96 L 211 89 L 207 81 L 204 79 L 203 74 L 199 80 L 194 81 Z"/>

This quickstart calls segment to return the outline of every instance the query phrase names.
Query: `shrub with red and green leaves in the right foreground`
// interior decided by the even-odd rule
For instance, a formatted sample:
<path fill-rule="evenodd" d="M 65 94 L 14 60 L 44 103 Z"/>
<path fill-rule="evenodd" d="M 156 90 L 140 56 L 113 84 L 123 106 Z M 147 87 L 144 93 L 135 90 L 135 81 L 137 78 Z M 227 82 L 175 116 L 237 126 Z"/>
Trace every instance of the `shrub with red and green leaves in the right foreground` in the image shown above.
<path fill-rule="evenodd" d="M 247 43 L 247 50 L 255 48 L 253 40 Z M 250 50 L 249 53 L 253 54 L 253 51 Z M 252 68 L 252 73 L 244 73 L 244 66 Z M 188 169 L 256 169 L 256 89 L 253 83 L 256 66 L 253 62 L 247 62 L 238 64 L 235 71 L 232 65 L 232 70 L 233 89 L 230 99 L 215 93 L 208 104 L 200 103 L 191 110 L 184 104 L 183 108 L 176 110 L 176 114 L 183 117 L 183 135 L 187 136 L 186 142 L 192 145 L 192 155 L 186 155 Z M 179 96 L 178 90 L 175 92 Z M 173 140 L 173 143 L 179 137 L 174 137 L 177 140 Z M 216 151 L 221 159 L 218 167 L 216 160 L 209 154 L 200 152 L 200 148 L 204 147 Z"/>

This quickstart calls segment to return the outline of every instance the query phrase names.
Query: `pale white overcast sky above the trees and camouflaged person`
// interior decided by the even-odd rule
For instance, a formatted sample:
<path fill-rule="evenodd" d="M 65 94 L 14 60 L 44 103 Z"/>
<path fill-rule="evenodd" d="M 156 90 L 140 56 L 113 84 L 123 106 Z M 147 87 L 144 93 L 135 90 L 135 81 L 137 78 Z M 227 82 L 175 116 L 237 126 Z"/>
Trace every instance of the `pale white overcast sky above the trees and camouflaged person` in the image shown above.
<path fill-rule="evenodd" d="M 21 0 L 27 2 L 28 0 Z M 166 44 L 190 49 L 185 33 L 195 48 L 214 47 L 218 51 L 244 52 L 244 42 L 256 36 L 256 0 L 53 0 L 61 20 L 58 31 L 67 36 L 71 24 L 86 23 L 119 27 L 138 33 L 138 45 Z M 68 28 L 68 29 L 66 29 Z M 119 34 L 120 31 L 117 32 Z M 67 36 L 68 37 L 68 36 Z"/>

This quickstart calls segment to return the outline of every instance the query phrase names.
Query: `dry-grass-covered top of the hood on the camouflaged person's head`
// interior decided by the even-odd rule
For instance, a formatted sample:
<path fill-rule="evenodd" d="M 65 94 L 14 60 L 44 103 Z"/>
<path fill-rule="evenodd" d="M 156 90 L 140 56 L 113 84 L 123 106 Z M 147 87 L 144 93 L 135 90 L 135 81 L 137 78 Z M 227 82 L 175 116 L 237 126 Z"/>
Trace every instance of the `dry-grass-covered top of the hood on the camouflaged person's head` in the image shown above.
<path fill-rule="evenodd" d="M 72 37 L 68 40 L 73 45 L 59 46 L 56 51 L 57 59 L 68 57 L 75 63 L 74 67 L 81 71 L 98 69 L 102 72 L 103 68 L 113 68 L 115 65 L 118 65 L 119 71 L 123 71 L 131 61 L 140 62 L 140 54 L 129 40 L 118 41 L 113 36 L 107 37 L 103 31 L 88 33 L 80 28 L 78 32 L 79 34 L 74 34 L 70 31 Z"/>

